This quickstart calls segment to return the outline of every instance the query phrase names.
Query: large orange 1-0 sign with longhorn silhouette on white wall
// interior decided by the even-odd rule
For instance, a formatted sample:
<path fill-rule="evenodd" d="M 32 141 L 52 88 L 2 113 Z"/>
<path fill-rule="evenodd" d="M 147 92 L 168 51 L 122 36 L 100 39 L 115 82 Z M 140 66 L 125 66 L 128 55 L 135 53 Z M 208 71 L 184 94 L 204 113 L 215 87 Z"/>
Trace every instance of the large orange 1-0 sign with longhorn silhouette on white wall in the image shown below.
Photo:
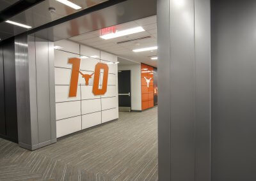
<path fill-rule="evenodd" d="M 83 74 L 80 71 L 80 62 L 81 59 L 79 58 L 70 58 L 68 59 L 68 63 L 72 64 L 72 73 L 70 79 L 70 88 L 69 88 L 69 97 L 76 97 L 77 94 L 77 86 L 78 86 L 78 78 L 79 73 L 83 76 L 85 80 L 85 85 L 89 85 L 89 80 L 92 78 L 94 74 L 93 80 L 93 89 L 92 92 L 94 95 L 104 95 L 107 92 L 108 87 L 108 65 L 104 63 L 97 63 L 95 66 L 95 71 L 91 75 Z M 102 80 L 102 87 L 99 89 L 99 82 L 100 82 L 100 70 L 103 70 L 103 80 Z"/>

